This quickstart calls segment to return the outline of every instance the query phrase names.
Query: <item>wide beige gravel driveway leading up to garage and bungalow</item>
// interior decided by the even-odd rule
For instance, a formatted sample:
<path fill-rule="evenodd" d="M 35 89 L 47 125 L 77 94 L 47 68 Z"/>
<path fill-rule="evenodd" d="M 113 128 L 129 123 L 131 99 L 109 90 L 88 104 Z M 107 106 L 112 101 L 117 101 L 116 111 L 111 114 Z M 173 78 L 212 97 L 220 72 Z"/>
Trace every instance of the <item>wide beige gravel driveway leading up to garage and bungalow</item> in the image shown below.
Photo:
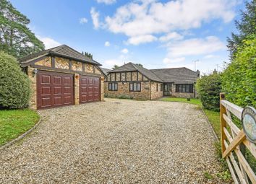
<path fill-rule="evenodd" d="M 221 183 L 214 136 L 195 105 L 106 99 L 40 110 L 0 152 L 0 183 Z"/>

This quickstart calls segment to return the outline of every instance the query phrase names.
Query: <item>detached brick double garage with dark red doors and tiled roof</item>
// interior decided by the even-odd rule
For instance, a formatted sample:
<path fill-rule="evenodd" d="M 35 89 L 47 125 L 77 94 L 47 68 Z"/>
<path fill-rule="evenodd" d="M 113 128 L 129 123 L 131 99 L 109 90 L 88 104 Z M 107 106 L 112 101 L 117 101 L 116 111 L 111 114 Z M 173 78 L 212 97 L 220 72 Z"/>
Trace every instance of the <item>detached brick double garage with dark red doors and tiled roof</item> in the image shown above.
<path fill-rule="evenodd" d="M 67 45 L 20 58 L 31 80 L 30 108 L 55 108 L 103 100 L 101 64 Z"/>

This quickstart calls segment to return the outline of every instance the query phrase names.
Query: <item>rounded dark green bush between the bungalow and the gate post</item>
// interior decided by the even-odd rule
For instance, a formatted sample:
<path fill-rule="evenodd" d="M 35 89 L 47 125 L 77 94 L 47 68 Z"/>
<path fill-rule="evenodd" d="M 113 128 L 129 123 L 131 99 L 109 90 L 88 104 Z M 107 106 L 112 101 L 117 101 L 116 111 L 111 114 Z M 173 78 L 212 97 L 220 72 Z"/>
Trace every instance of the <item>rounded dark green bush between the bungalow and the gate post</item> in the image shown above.
<path fill-rule="evenodd" d="M 197 93 L 202 106 L 208 110 L 220 109 L 219 94 L 221 92 L 221 76 L 217 72 L 197 79 Z"/>

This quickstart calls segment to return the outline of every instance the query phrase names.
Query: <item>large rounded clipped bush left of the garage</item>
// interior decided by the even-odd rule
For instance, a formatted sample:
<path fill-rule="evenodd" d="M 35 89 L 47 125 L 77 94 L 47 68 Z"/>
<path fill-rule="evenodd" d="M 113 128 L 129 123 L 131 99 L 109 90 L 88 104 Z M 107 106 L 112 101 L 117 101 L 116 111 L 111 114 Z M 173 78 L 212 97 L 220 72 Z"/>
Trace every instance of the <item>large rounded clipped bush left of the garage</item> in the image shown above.
<path fill-rule="evenodd" d="M 26 108 L 30 99 L 30 80 L 16 58 L 0 52 L 0 108 Z"/>

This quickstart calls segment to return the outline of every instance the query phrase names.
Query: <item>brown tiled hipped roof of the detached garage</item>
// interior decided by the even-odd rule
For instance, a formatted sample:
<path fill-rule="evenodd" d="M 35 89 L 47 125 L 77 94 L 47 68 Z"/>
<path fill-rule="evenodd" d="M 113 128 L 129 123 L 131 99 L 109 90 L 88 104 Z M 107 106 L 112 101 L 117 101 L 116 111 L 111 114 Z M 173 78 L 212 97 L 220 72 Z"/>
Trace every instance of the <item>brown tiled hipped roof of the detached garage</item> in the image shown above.
<path fill-rule="evenodd" d="M 50 48 L 45 51 L 40 51 L 38 53 L 33 53 L 28 56 L 25 56 L 24 58 L 20 58 L 19 61 L 21 63 L 28 63 L 34 58 L 38 58 L 40 56 L 47 56 L 47 55 L 54 55 L 54 56 L 61 56 L 65 58 L 74 59 L 77 61 L 83 61 L 87 63 L 93 63 L 95 65 L 101 65 L 97 61 L 93 60 L 92 58 L 88 58 L 87 56 L 82 55 L 82 53 L 75 51 L 73 48 L 70 48 L 68 45 L 60 45 L 55 48 Z"/>

